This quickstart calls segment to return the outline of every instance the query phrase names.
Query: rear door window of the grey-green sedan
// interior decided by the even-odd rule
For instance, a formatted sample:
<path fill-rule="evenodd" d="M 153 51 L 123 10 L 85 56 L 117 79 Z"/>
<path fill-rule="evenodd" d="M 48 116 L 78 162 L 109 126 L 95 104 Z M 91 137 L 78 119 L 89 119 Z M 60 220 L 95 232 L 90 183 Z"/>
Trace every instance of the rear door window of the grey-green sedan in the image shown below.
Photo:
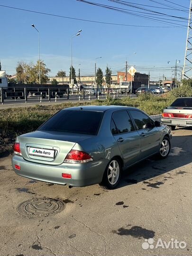
<path fill-rule="evenodd" d="M 118 129 L 118 133 L 126 133 L 134 130 L 133 123 L 126 110 L 115 112 L 112 119 Z"/>

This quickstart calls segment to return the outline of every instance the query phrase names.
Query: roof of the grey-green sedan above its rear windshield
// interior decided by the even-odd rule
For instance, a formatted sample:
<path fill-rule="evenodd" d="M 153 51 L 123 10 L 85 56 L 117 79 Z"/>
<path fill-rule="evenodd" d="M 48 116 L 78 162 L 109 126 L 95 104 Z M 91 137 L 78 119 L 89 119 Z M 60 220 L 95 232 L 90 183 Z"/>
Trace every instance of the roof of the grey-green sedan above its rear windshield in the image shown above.
<path fill-rule="evenodd" d="M 63 110 L 87 110 L 87 111 L 100 111 L 100 112 L 105 112 L 107 110 L 120 110 L 120 109 L 136 109 L 137 108 L 133 108 L 133 107 L 129 107 L 129 106 L 79 106 L 79 107 L 71 107 L 71 108 L 66 108 Z"/>

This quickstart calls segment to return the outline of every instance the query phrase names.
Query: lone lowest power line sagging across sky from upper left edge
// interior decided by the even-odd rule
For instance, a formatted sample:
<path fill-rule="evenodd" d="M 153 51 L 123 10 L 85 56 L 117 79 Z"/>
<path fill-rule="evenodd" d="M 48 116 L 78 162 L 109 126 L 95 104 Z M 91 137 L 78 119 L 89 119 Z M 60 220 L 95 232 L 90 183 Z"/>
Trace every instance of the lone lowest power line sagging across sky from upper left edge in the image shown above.
<path fill-rule="evenodd" d="M 180 26 L 145 26 L 145 25 L 130 25 L 130 24 L 111 23 L 111 22 L 103 22 L 103 21 L 96 21 L 96 20 L 89 20 L 89 19 L 82 19 L 82 18 L 67 17 L 67 16 L 62 16 L 62 15 L 46 13 L 46 12 L 40 12 L 40 11 L 34 11 L 34 10 L 22 9 L 22 8 L 16 8 L 16 7 L 12 7 L 12 6 L 1 5 L 1 4 L 0 4 L 0 6 L 1 7 L 5 7 L 5 8 L 10 8 L 10 9 L 16 9 L 16 10 L 22 10 L 22 11 L 27 11 L 27 12 L 37 13 L 37 14 L 54 16 L 54 17 L 58 17 L 58 18 L 68 18 L 68 19 L 81 20 L 81 21 L 86 21 L 86 22 L 100 23 L 100 24 L 107 24 L 107 25 L 126 26 L 126 27 L 165 27 L 165 28 L 166 27 L 169 27 L 169 28 L 170 27 L 180 27 Z"/>

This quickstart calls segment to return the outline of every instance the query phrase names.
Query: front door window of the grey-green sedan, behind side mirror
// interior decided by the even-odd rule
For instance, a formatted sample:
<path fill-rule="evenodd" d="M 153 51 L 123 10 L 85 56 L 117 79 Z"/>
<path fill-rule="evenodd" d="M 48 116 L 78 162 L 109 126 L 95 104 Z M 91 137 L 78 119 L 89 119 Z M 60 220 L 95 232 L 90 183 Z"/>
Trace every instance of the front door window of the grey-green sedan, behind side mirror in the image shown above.
<path fill-rule="evenodd" d="M 129 110 L 129 113 L 134 119 L 138 130 L 145 129 L 145 125 L 147 125 L 148 127 L 151 126 L 151 128 L 154 127 L 153 121 L 141 111 Z"/>

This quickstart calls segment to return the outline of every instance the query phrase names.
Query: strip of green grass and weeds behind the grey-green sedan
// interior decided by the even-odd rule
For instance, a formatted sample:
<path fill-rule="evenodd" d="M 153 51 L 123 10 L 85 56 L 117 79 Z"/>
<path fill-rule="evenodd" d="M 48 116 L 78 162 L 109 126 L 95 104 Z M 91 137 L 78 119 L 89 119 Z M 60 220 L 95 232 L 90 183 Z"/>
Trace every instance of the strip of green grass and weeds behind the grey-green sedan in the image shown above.
<path fill-rule="evenodd" d="M 113 100 L 108 98 L 105 101 L 89 101 L 89 102 L 67 102 L 59 105 L 25 107 L 18 109 L 0 110 L 0 137 L 7 134 L 26 133 L 37 129 L 49 117 L 58 110 L 83 105 L 121 105 L 131 106 L 144 110 L 148 115 L 162 113 L 163 109 L 170 104 L 170 98 L 155 97 L 154 95 L 141 95 L 137 99 L 124 97 L 122 99 Z"/>

